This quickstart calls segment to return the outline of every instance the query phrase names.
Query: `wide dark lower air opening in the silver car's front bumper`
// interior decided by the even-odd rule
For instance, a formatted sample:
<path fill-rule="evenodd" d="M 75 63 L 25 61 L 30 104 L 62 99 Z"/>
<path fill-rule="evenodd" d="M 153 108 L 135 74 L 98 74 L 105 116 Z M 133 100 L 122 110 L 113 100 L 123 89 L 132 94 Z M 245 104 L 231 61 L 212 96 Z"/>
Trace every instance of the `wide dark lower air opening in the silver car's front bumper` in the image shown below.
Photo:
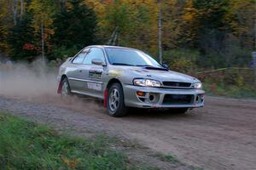
<path fill-rule="evenodd" d="M 191 94 L 166 94 L 163 104 L 179 105 L 192 104 L 194 95 Z"/>

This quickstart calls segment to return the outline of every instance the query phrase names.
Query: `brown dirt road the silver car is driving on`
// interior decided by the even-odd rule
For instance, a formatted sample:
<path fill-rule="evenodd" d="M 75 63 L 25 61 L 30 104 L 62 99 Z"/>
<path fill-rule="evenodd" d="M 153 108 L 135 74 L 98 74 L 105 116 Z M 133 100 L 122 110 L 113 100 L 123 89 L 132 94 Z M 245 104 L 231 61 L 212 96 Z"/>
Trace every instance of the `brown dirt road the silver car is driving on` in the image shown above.
<path fill-rule="evenodd" d="M 68 105 L 67 105 L 68 104 Z M 61 101 L 0 97 L 0 111 L 28 116 L 82 133 L 101 132 L 136 140 L 151 150 L 172 153 L 204 169 L 256 169 L 256 101 L 207 97 L 206 106 L 185 115 L 132 111 L 108 116 L 90 99 Z M 167 167 L 168 168 L 168 167 Z"/>

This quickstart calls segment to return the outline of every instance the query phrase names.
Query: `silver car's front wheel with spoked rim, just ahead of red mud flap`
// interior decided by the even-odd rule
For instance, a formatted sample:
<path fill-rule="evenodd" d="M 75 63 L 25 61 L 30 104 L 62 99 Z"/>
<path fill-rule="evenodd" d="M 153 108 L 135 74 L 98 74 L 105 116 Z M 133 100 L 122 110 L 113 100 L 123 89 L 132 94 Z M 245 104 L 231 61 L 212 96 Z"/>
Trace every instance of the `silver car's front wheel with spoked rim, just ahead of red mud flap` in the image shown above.
<path fill-rule="evenodd" d="M 108 89 L 107 109 L 110 116 L 119 117 L 127 114 L 125 96 L 121 84 L 113 83 L 113 85 Z"/>

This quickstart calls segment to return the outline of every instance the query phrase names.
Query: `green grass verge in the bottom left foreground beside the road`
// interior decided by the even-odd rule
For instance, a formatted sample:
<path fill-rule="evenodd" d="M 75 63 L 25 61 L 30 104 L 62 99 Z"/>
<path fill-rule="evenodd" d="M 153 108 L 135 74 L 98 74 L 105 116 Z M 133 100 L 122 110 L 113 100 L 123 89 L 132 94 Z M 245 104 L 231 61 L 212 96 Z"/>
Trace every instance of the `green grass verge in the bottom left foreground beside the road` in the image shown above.
<path fill-rule="evenodd" d="M 0 113 L 0 169 L 153 169 L 132 164 L 108 139 L 84 139 Z"/>

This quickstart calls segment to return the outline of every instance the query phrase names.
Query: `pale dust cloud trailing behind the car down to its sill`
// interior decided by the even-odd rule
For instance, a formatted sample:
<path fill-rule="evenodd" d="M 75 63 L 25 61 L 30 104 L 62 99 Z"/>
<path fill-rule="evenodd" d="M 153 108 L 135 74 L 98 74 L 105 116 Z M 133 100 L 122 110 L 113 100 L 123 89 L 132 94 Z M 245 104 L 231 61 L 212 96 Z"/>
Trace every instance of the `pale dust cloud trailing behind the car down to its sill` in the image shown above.
<path fill-rule="evenodd" d="M 96 99 L 78 96 L 61 99 L 57 94 L 57 73 L 58 68 L 40 60 L 31 64 L 0 64 L 0 96 L 60 105 L 76 111 L 102 110 L 102 101 Z"/>

